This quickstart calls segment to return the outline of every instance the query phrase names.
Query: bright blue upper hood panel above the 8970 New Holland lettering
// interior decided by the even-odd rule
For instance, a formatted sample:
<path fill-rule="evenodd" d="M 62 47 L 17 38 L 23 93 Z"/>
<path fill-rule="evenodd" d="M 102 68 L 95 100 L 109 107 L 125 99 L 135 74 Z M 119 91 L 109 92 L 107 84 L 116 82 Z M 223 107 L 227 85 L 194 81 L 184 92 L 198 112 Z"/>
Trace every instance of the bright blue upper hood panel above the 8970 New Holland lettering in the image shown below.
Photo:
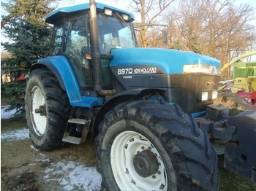
<path fill-rule="evenodd" d="M 219 69 L 221 63 L 215 58 L 195 52 L 168 50 L 159 48 L 126 48 L 112 49 L 113 60 L 110 67 L 115 66 L 158 66 L 165 74 L 183 74 L 184 65 L 208 65 L 214 67 L 212 74 Z"/>

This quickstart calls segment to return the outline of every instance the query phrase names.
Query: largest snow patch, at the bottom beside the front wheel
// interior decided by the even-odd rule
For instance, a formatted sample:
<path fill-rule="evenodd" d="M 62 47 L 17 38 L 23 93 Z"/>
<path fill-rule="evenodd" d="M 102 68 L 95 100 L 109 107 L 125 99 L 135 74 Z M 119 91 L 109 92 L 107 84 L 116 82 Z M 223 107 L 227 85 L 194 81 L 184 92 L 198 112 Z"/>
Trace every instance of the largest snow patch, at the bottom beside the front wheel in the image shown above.
<path fill-rule="evenodd" d="M 51 163 L 45 170 L 45 174 L 47 175 L 43 179 L 47 182 L 60 177 L 57 180 L 64 191 L 74 189 L 88 191 L 101 190 L 100 182 L 102 178 L 96 168 L 86 167 L 82 163 L 72 161 L 68 163 Z"/>

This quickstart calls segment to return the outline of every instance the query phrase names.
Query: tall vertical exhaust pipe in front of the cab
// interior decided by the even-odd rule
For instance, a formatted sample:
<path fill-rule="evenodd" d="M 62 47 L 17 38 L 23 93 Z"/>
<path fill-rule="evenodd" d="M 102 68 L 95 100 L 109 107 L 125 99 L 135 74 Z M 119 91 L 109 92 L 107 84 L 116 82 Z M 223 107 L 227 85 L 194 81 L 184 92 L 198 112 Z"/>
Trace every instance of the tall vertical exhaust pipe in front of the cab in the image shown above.
<path fill-rule="evenodd" d="M 91 58 L 93 64 L 94 90 L 99 95 L 114 95 L 116 90 L 102 90 L 101 52 L 99 48 L 99 31 L 95 0 L 90 0 Z"/>

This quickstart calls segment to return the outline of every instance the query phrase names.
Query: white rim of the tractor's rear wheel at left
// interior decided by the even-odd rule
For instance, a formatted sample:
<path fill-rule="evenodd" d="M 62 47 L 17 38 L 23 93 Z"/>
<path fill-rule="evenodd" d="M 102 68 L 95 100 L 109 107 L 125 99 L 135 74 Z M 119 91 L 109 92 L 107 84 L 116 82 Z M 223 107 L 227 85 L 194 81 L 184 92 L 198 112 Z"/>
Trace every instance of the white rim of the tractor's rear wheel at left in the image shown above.
<path fill-rule="evenodd" d="M 34 132 L 38 136 L 42 136 L 46 129 L 46 117 L 35 112 L 35 109 L 39 109 L 42 105 L 45 105 L 45 96 L 38 86 L 34 86 L 31 90 L 31 120 Z"/>

